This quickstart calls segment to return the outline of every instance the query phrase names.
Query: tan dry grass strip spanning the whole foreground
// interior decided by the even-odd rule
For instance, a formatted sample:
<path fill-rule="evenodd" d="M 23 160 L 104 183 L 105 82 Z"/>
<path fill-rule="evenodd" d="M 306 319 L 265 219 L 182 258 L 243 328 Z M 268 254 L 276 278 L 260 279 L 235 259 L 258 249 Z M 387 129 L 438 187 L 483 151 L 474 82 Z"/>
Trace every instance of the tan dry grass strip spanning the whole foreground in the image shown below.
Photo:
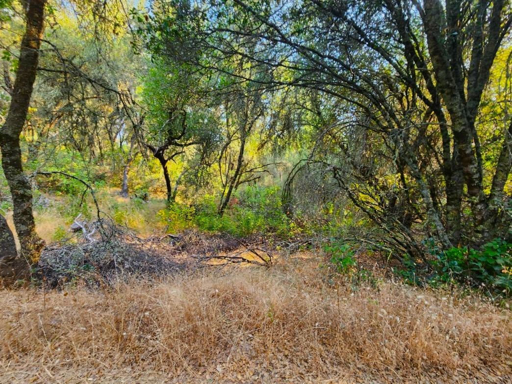
<path fill-rule="evenodd" d="M 507 380 L 509 312 L 393 283 L 352 292 L 324 283 L 313 266 L 203 271 L 104 291 L 3 291 L 0 381 L 71 382 L 67 374 L 85 370 L 108 382 L 101 375 L 120 367 L 176 382 L 317 382 L 340 372 L 402 380 L 440 367 Z"/>

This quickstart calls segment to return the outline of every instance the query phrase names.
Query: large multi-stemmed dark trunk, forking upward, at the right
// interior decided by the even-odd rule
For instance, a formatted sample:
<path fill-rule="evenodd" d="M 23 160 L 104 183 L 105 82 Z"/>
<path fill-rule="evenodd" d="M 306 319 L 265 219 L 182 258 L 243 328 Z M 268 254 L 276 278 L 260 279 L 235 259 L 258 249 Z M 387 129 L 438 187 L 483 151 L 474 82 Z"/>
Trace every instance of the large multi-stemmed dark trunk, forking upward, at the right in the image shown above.
<path fill-rule="evenodd" d="M 508 18 L 502 25 L 503 0 L 493 2 L 489 14 L 487 36 L 483 38 L 487 2 L 480 2 L 477 17 L 474 21 L 474 41 L 471 51 L 470 68 L 467 84 L 462 76 L 462 54 L 459 52 L 461 43 L 456 30 L 461 17 L 460 3 L 446 6 L 446 17 L 449 25 L 444 24 L 444 14 L 439 0 L 424 1 L 423 25 L 432 60 L 437 86 L 448 110 L 454 139 L 452 157 L 453 180 L 446 180 L 446 195 L 449 205 L 458 210 L 463 195 L 464 184 L 467 195 L 471 198 L 475 228 L 483 222 L 487 215 L 487 199 L 483 191 L 483 168 L 480 140 L 475 129 L 475 119 L 482 98 L 482 92 L 490 76 L 490 68 L 496 57 L 505 32 L 510 28 L 512 19 Z M 464 94 L 464 86 L 466 93 Z M 460 182 L 460 174 L 463 182 Z M 453 190 L 450 190 L 450 189 Z M 453 199 L 452 199 L 453 198 Z M 447 214 L 449 223 L 455 221 L 456 215 Z M 478 231 L 478 230 L 477 230 Z M 456 238 L 459 231 L 455 229 Z"/>

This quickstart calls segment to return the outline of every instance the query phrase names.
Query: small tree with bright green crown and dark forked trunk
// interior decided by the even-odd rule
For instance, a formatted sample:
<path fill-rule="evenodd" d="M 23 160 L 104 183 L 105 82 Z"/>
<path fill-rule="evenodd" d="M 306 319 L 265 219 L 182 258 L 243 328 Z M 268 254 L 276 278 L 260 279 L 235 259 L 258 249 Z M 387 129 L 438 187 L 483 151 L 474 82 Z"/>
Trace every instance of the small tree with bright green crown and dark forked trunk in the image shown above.
<path fill-rule="evenodd" d="M 220 136 L 215 106 L 202 98 L 209 87 L 207 80 L 165 56 L 155 55 L 154 60 L 157 65 L 148 72 L 143 92 L 148 123 L 141 140 L 162 166 L 167 201 L 173 203 L 186 169 L 173 186 L 169 162 L 197 150 L 201 155 L 195 166 L 201 166 L 207 153 L 215 151 Z"/>

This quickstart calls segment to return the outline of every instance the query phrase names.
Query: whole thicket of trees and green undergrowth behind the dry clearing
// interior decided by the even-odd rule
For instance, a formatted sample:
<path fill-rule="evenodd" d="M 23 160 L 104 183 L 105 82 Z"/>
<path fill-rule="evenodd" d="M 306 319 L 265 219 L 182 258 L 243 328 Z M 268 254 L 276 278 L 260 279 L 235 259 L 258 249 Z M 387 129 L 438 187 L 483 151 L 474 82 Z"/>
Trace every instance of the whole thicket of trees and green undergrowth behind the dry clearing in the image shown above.
<path fill-rule="evenodd" d="M 510 294 L 507 2 L 26 5 L 0 2 L 10 261 L 100 216 Z"/>

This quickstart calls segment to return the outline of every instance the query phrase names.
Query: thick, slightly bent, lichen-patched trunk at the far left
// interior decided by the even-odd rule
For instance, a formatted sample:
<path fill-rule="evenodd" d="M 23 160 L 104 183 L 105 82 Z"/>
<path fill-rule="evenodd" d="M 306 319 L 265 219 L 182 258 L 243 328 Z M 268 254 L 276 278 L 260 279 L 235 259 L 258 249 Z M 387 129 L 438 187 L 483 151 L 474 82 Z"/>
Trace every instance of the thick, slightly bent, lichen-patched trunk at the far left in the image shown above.
<path fill-rule="evenodd" d="M 38 261 L 45 243 L 35 231 L 32 214 L 32 188 L 23 172 L 19 136 L 27 118 L 37 72 L 40 39 L 44 29 L 45 3 L 46 0 L 31 0 L 29 2 L 27 26 L 20 48 L 11 104 L 6 122 L 0 132 L 2 167 L 14 204 L 14 226 L 21 245 L 21 257 L 27 260 L 27 263 L 23 265 L 27 266 Z"/>

